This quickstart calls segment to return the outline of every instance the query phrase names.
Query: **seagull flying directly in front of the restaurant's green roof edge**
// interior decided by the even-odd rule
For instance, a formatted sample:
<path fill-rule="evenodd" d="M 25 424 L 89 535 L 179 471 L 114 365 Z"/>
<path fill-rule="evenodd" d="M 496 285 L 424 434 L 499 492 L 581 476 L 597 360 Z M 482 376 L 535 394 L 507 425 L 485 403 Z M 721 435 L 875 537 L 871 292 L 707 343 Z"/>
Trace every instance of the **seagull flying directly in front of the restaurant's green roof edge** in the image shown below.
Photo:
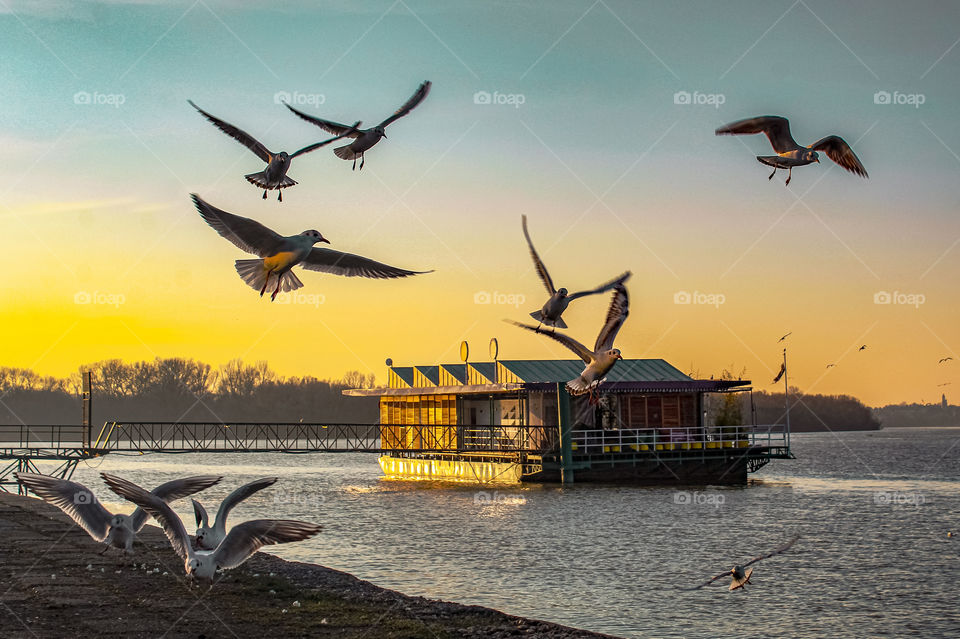
<path fill-rule="evenodd" d="M 596 403 L 593 390 L 603 382 L 607 373 L 609 373 L 613 365 L 617 363 L 617 360 L 623 359 L 620 355 L 620 349 L 613 347 L 613 342 L 617 337 L 617 333 L 620 331 L 620 327 L 623 326 L 624 320 L 627 319 L 627 315 L 630 312 L 629 307 L 630 302 L 627 298 L 627 289 L 623 284 L 617 284 L 614 287 L 613 298 L 610 300 L 610 309 L 607 311 L 607 321 L 604 323 L 603 328 L 600 329 L 600 334 L 597 335 L 597 342 L 593 350 L 590 350 L 577 340 L 572 337 L 567 337 L 562 333 L 553 331 L 542 333 L 569 348 L 586 364 L 586 368 L 583 369 L 579 377 L 567 382 L 567 390 L 571 395 L 590 393 L 591 403 Z M 525 328 L 528 331 L 540 333 L 538 327 L 521 324 L 520 322 L 510 321 L 510 323 L 520 328 Z"/>

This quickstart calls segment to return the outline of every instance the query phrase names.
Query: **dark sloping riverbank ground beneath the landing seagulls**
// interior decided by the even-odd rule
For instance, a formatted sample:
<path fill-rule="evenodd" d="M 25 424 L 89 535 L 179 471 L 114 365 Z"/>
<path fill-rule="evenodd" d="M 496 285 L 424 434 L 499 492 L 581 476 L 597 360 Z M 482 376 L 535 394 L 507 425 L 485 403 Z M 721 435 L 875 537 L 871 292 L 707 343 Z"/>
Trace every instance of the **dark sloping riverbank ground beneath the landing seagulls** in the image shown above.
<path fill-rule="evenodd" d="M 132 558 L 113 550 L 98 555 L 101 548 L 53 506 L 0 492 L 3 636 L 609 637 L 410 597 L 266 553 L 224 573 L 212 589 L 198 587 L 151 525 Z"/>

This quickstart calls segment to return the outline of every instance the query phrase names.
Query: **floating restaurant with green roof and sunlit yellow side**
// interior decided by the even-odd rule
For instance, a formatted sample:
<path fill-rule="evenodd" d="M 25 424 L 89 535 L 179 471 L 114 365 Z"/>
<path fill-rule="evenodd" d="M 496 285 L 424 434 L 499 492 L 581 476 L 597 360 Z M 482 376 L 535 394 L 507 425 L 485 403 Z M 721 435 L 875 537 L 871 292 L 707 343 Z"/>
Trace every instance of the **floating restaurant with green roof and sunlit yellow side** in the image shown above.
<path fill-rule="evenodd" d="M 593 400 L 564 387 L 580 360 L 387 365 L 386 387 L 344 394 L 380 398 L 392 478 L 743 484 L 793 458 L 789 423 L 705 423 L 711 395 L 746 393 L 752 408 L 749 381 L 693 379 L 662 359 L 617 362 Z"/>

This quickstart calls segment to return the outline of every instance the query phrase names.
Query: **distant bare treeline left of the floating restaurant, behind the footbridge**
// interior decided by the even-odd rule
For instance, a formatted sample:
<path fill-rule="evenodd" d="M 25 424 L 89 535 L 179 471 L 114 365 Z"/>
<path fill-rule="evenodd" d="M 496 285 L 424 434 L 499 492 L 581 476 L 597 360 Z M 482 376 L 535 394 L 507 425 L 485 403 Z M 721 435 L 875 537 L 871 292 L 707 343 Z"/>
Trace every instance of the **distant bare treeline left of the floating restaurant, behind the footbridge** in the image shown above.
<path fill-rule="evenodd" d="M 191 359 L 80 367 L 93 374 L 93 423 L 104 421 L 330 422 L 377 421 L 377 398 L 344 397 L 374 376 L 351 371 L 338 380 L 280 377 L 266 362 L 240 360 L 213 368 Z M 79 424 L 81 374 L 42 377 L 0 368 L 0 423 Z"/>

